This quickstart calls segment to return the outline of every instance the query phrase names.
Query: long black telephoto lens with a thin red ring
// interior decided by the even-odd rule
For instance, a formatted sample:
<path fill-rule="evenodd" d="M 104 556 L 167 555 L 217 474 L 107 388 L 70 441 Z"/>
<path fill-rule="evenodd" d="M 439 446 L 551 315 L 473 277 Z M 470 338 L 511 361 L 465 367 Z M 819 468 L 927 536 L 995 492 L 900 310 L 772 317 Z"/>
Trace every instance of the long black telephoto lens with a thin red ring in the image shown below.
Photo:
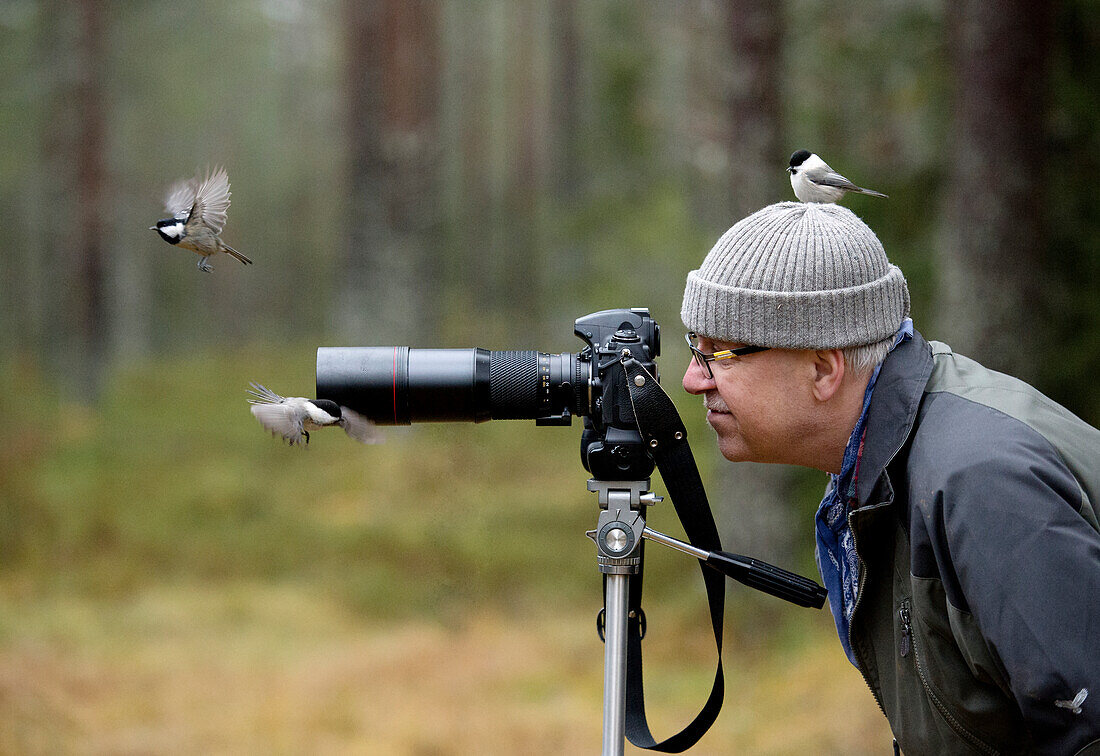
<path fill-rule="evenodd" d="M 586 414 L 591 363 L 576 354 L 487 349 L 321 347 L 317 396 L 377 425 L 564 420 Z"/>

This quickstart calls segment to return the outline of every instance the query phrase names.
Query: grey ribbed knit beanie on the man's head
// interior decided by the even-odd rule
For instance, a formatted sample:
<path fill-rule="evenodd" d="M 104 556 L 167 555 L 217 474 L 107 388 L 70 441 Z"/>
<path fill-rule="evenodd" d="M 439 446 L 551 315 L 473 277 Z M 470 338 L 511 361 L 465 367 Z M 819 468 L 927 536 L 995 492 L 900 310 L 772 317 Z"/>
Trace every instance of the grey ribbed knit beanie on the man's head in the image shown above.
<path fill-rule="evenodd" d="M 688 274 L 680 317 L 718 341 L 839 349 L 893 335 L 905 276 L 875 232 L 839 205 L 779 202 L 726 231 Z"/>

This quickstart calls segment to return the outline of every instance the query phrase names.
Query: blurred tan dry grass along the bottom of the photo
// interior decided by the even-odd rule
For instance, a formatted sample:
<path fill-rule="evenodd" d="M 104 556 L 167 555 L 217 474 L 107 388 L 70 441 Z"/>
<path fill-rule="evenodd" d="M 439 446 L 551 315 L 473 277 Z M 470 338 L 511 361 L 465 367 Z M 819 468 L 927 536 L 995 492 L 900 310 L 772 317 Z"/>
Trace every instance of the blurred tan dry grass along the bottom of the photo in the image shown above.
<path fill-rule="evenodd" d="M 3 753 L 598 749 L 603 649 L 591 615 L 496 609 L 452 626 L 375 623 L 299 588 L 253 584 L 155 590 L 109 607 L 9 599 L 2 611 L 19 617 L 0 648 Z M 810 637 L 765 655 L 729 638 L 725 710 L 691 753 L 889 748 L 859 676 L 827 634 Z M 702 703 L 704 642 L 647 659 L 658 736 Z"/>

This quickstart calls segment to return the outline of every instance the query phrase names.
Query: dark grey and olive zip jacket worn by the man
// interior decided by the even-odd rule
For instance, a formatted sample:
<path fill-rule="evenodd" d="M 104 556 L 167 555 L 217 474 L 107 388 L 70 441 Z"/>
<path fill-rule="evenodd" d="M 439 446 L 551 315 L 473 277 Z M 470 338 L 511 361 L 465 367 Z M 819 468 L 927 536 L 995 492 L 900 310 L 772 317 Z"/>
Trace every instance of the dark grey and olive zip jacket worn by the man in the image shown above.
<path fill-rule="evenodd" d="M 902 752 L 1100 754 L 1100 430 L 917 333 L 856 486 L 851 647 Z"/>

